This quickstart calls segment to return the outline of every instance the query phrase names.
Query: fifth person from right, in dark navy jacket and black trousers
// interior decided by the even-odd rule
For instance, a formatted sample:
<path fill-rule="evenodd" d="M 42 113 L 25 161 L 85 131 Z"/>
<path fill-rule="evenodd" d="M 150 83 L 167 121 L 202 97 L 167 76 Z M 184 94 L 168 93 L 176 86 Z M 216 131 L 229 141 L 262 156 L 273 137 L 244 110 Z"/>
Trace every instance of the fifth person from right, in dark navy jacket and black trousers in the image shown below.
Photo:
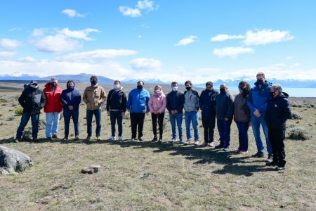
<path fill-rule="evenodd" d="M 214 129 L 216 117 L 216 96 L 219 92 L 213 89 L 212 82 L 206 82 L 206 89 L 199 96 L 199 107 L 202 110 L 202 124 L 204 127 L 204 143 L 202 146 L 214 146 Z"/>

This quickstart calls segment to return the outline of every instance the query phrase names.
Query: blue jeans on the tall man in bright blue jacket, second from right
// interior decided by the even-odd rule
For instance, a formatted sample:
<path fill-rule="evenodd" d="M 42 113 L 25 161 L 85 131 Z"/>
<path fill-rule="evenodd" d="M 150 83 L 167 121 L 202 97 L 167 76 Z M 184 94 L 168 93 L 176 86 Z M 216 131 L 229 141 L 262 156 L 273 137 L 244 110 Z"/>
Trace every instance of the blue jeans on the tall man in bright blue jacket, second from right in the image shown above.
<path fill-rule="evenodd" d="M 265 134 L 265 142 L 267 143 L 267 151 L 269 154 L 272 154 L 272 148 L 269 141 L 268 127 L 267 127 L 267 124 L 265 123 L 265 117 L 263 116 L 255 117 L 254 115 L 251 115 L 251 123 L 252 123 L 252 132 L 254 133 L 258 152 L 263 153 L 265 151 L 265 148 L 263 147 L 263 141 L 261 138 L 261 132 L 260 132 L 260 124 L 261 124 L 263 133 Z"/>

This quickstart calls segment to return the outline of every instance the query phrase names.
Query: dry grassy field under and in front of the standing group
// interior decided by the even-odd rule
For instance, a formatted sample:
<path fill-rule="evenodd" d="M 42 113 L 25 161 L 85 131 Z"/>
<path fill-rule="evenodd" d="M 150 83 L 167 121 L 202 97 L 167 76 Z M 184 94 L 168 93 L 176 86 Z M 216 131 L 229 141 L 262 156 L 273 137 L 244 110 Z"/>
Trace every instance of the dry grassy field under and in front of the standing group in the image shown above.
<path fill-rule="evenodd" d="M 167 143 L 171 138 L 168 115 L 161 144 L 150 141 L 150 115 L 145 117 L 145 141 L 128 140 L 131 137 L 128 117 L 124 119 L 126 140 L 107 141 L 110 118 L 106 112 L 102 114 L 103 140 L 86 142 L 85 106 L 80 107 L 80 141 L 46 142 L 45 129 L 41 129 L 38 143 L 12 143 L 20 122 L 20 116 L 14 113 L 18 107 L 14 96 L 21 89 L 1 87 L 8 84 L 1 84 L 0 93 L 11 101 L 0 104 L 0 144 L 26 153 L 34 166 L 22 174 L 0 175 L 0 210 L 316 209 L 315 108 L 293 108 L 303 119 L 289 120 L 289 124 L 308 129 L 312 139 L 287 139 L 287 170 L 275 172 L 272 167 L 265 167 L 265 159 L 250 158 L 256 153 L 251 129 L 249 155 L 209 147 L 172 146 Z M 110 87 L 105 89 L 108 92 Z M 44 113 L 40 118 L 45 119 Z M 60 138 L 63 125 L 61 120 Z M 201 121 L 199 126 L 202 142 Z M 93 131 L 95 128 L 93 125 Z M 70 134 L 74 137 L 72 125 Z M 218 144 L 217 130 L 215 136 Z M 237 144 L 237 127 L 233 122 L 231 149 L 235 150 Z M 101 165 L 100 172 L 80 173 L 81 168 L 93 164 Z"/>

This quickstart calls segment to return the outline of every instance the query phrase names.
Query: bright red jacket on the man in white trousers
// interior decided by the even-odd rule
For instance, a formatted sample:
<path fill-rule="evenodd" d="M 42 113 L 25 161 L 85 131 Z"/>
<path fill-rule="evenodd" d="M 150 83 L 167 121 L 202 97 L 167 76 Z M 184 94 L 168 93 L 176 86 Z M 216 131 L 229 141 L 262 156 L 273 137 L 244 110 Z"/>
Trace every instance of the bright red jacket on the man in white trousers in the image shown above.
<path fill-rule="evenodd" d="M 55 91 L 51 90 L 51 82 L 45 84 L 45 89 L 43 90 L 46 96 L 46 104 L 44 106 L 45 113 L 58 112 L 62 111 L 62 101 L 60 99 L 62 89 L 58 86 Z"/>

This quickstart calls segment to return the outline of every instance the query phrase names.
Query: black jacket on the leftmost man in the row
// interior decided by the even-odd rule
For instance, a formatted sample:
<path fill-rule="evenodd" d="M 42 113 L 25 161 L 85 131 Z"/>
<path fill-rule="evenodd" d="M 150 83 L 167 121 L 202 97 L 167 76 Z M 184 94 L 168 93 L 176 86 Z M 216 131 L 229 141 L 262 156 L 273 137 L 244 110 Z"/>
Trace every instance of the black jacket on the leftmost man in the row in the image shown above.
<path fill-rule="evenodd" d="M 44 108 L 46 97 L 43 91 L 28 87 L 22 91 L 18 99 L 20 105 L 23 107 L 23 113 L 39 114 L 41 109 Z"/>

